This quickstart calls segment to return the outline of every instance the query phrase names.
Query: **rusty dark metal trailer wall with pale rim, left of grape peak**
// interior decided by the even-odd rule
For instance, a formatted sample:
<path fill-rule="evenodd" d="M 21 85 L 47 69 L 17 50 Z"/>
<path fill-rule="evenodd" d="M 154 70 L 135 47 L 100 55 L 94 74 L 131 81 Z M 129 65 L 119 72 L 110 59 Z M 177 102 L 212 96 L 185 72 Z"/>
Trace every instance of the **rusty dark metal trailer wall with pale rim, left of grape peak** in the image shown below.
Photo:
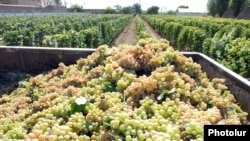
<path fill-rule="evenodd" d="M 0 46 L 0 72 L 42 72 L 58 67 L 58 63 L 73 64 L 95 49 L 7 47 Z"/>

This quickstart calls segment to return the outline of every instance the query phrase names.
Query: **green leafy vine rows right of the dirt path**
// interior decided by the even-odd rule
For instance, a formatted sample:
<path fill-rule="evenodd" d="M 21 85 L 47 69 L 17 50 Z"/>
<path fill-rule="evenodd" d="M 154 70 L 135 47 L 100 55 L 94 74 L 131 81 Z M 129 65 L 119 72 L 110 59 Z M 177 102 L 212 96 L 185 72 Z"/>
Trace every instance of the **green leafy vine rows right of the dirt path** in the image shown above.
<path fill-rule="evenodd" d="M 249 21 L 169 15 L 142 17 L 180 51 L 202 52 L 243 77 L 250 77 Z"/>

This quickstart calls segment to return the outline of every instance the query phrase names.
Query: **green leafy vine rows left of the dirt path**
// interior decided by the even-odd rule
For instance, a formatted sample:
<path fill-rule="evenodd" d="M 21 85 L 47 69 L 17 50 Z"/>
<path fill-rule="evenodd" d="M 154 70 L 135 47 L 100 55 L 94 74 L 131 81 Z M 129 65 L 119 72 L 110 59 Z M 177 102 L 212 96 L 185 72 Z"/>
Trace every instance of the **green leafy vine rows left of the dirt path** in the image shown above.
<path fill-rule="evenodd" d="M 95 48 L 111 44 L 131 18 L 119 14 L 4 17 L 0 45 Z"/>

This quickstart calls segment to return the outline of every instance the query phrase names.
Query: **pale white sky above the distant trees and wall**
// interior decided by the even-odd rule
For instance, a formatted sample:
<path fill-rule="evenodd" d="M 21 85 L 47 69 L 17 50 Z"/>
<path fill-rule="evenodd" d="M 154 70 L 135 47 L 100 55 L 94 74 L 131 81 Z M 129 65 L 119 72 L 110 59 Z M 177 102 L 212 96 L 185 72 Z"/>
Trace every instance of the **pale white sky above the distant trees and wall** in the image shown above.
<path fill-rule="evenodd" d="M 113 7 L 120 5 L 122 7 L 132 6 L 135 3 L 141 3 L 141 8 L 147 10 L 151 6 L 158 6 L 159 12 L 165 12 L 169 10 L 176 10 L 178 6 L 189 6 L 195 12 L 207 11 L 208 0 L 62 0 L 62 3 L 66 2 L 67 7 L 72 4 L 82 5 L 85 9 L 105 9 L 108 6 Z"/>

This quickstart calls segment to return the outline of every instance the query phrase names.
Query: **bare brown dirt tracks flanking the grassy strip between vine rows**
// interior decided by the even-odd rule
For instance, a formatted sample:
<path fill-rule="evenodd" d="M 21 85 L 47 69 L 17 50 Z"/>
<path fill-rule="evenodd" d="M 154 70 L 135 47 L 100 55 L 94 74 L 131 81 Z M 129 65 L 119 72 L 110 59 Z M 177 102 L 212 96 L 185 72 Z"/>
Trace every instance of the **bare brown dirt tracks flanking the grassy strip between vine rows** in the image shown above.
<path fill-rule="evenodd" d="M 159 36 L 145 21 L 147 31 L 150 33 L 152 38 L 160 39 Z M 136 27 L 135 27 L 135 18 L 128 24 L 128 26 L 124 29 L 124 31 L 119 35 L 119 37 L 115 40 L 114 45 L 117 46 L 119 44 L 136 44 Z"/>

